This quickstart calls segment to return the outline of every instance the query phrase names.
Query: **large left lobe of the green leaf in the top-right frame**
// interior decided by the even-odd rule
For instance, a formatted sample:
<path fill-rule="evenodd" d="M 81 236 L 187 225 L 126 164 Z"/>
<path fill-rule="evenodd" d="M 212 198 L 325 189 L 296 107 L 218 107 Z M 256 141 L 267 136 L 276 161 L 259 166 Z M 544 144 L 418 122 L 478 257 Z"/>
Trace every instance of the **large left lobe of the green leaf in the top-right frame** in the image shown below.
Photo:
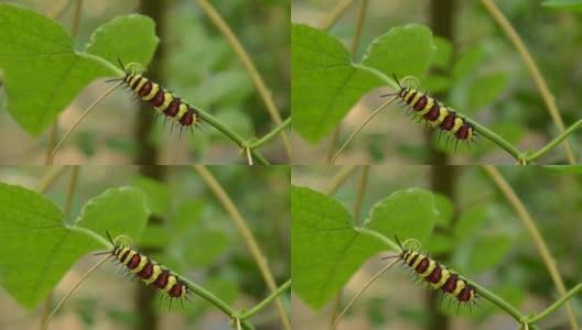
<path fill-rule="evenodd" d="M 315 143 L 323 139 L 368 90 L 386 85 L 377 74 L 351 62 L 332 35 L 291 24 L 291 107 L 293 129 Z"/>

